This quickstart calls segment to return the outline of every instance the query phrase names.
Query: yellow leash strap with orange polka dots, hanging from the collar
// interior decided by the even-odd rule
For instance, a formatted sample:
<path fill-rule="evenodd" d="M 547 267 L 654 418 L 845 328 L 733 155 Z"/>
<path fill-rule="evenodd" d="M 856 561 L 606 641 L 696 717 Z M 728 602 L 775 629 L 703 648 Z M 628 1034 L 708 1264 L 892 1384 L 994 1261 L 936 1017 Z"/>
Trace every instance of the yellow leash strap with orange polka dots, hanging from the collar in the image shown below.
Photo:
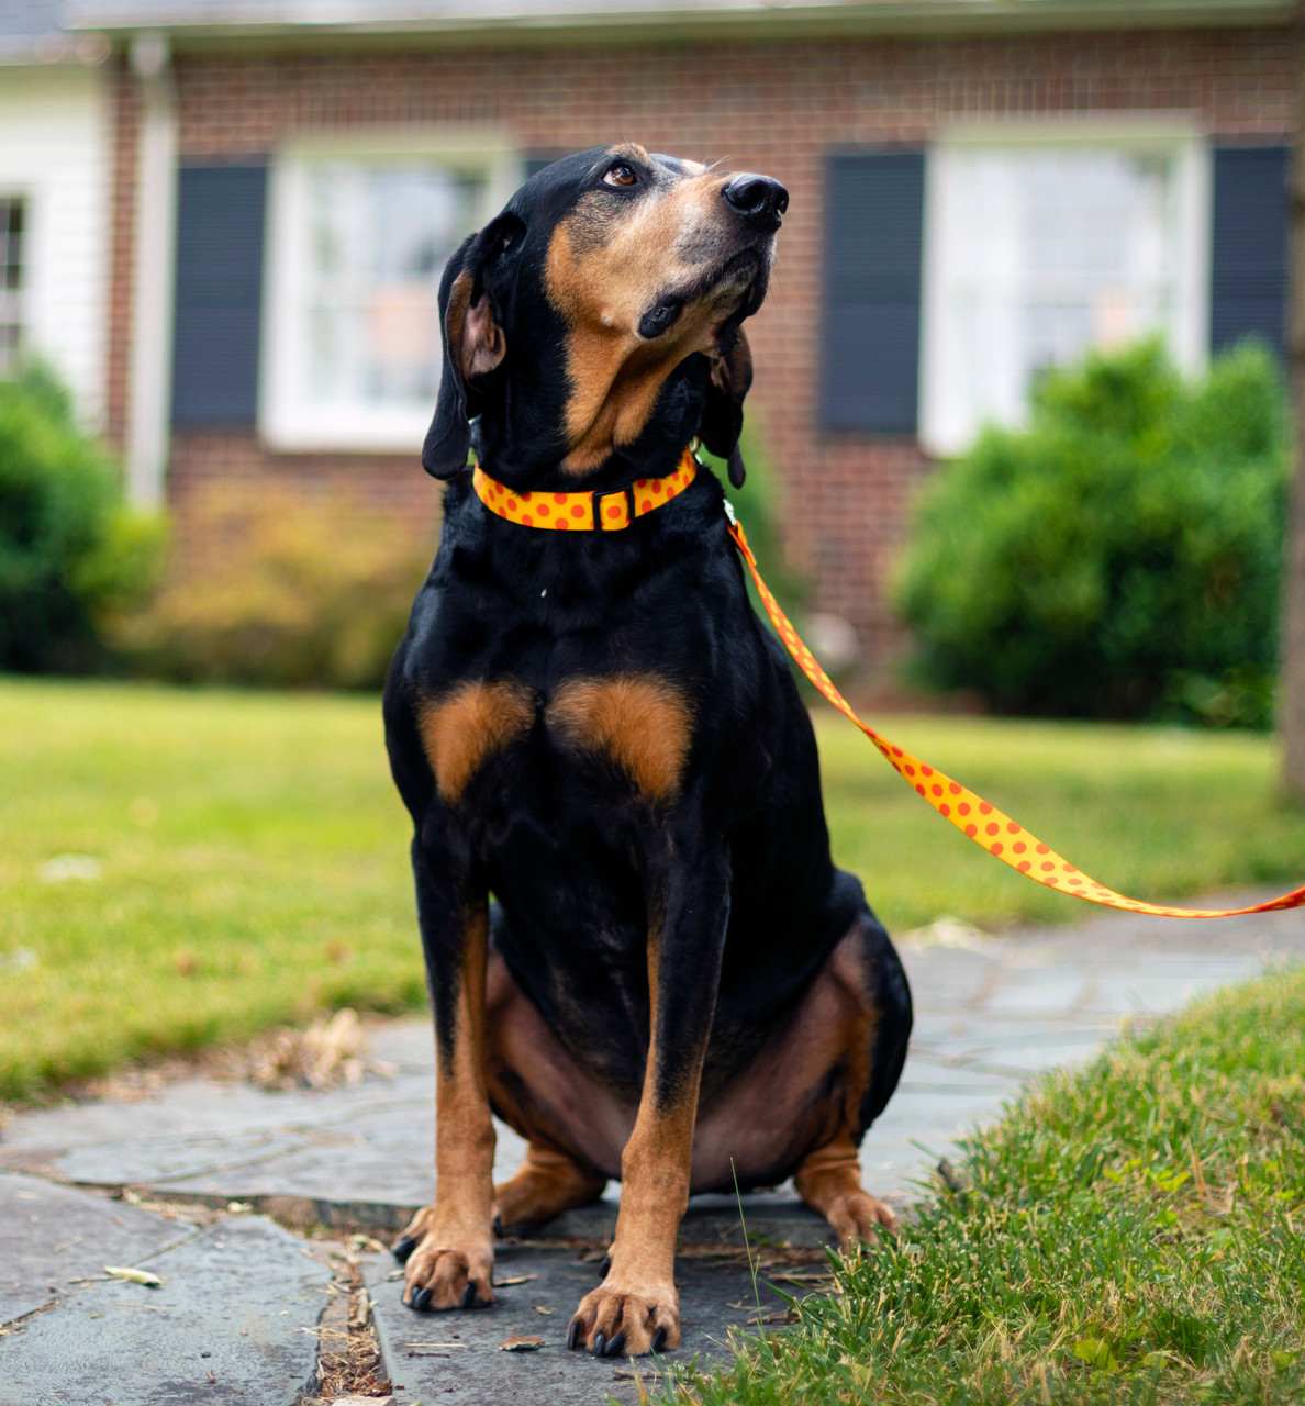
<path fill-rule="evenodd" d="M 799 640 L 797 631 L 789 617 L 779 609 L 769 586 L 761 579 L 757 569 L 757 558 L 748 546 L 747 534 L 734 509 L 726 503 L 726 516 L 730 520 L 730 537 L 747 562 L 757 589 L 761 593 L 766 614 L 779 631 L 785 648 L 793 655 L 802 672 L 816 685 L 817 689 L 838 709 L 849 721 L 855 723 L 862 733 L 879 748 L 889 765 L 901 776 L 908 786 L 922 796 L 938 811 L 944 820 L 949 820 L 958 830 L 969 835 L 976 845 L 996 855 L 1004 865 L 1017 869 L 1029 879 L 1046 884 L 1059 893 L 1070 893 L 1076 898 L 1086 898 L 1088 903 L 1101 903 L 1110 908 L 1126 908 L 1129 912 L 1153 912 L 1162 918 L 1232 918 L 1242 912 L 1273 912 L 1280 908 L 1299 908 L 1305 905 L 1305 887 L 1292 889 L 1281 898 L 1268 903 L 1257 903 L 1250 908 L 1169 908 L 1159 903 L 1142 903 L 1139 898 L 1129 898 L 1105 884 L 1088 879 L 1072 863 L 1062 859 L 1049 845 L 1043 845 L 1036 835 L 1031 835 L 1018 821 L 1003 814 L 982 796 L 968 790 L 960 782 L 953 782 L 937 766 L 921 762 L 918 756 L 911 756 L 896 742 L 890 742 L 882 733 L 876 733 L 868 723 L 852 711 L 848 700 L 834 688 L 830 676 L 816 662 L 811 651 Z"/>

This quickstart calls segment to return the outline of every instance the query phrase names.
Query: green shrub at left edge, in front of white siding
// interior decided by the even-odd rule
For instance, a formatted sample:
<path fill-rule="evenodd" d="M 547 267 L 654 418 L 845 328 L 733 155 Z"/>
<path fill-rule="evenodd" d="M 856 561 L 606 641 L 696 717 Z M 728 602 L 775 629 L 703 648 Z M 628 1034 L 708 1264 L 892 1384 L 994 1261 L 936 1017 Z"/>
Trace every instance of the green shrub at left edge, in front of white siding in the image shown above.
<path fill-rule="evenodd" d="M 162 547 L 51 373 L 0 381 L 0 669 L 103 664 L 104 617 L 149 589 Z"/>

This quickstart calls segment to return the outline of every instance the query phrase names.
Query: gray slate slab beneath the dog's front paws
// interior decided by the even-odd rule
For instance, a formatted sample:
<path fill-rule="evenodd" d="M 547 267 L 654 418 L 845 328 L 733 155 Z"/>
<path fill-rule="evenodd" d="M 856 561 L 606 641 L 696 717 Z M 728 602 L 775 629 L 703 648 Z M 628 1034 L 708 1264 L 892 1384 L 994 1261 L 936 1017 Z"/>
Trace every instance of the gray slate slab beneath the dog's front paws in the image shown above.
<path fill-rule="evenodd" d="M 533 1274 L 527 1284 L 496 1288 L 489 1309 L 415 1313 L 402 1303 L 404 1284 L 390 1278 L 394 1261 L 377 1257 L 366 1268 L 385 1365 L 395 1384 L 395 1400 L 449 1406 L 600 1406 L 609 1396 L 637 1402 L 638 1386 L 617 1372 L 648 1372 L 652 1357 L 593 1358 L 567 1351 L 567 1327 L 575 1306 L 599 1284 L 598 1267 L 581 1263 L 570 1250 L 499 1249 L 495 1279 Z M 731 1327 L 757 1315 L 752 1278 L 745 1264 L 712 1265 L 676 1260 L 683 1343 L 665 1362 L 699 1365 L 727 1358 Z M 785 1285 L 792 1292 L 793 1285 Z M 761 1284 L 764 1313 L 783 1310 L 779 1296 Z M 536 1308 L 551 1309 L 537 1313 Z M 503 1353 L 512 1333 L 539 1336 L 546 1346 L 534 1353 Z M 435 1344 L 435 1346 L 432 1346 Z M 453 1346 L 450 1346 L 453 1344 Z M 645 1388 L 650 1384 L 644 1384 Z M 399 1388 L 402 1386 L 402 1391 Z"/>

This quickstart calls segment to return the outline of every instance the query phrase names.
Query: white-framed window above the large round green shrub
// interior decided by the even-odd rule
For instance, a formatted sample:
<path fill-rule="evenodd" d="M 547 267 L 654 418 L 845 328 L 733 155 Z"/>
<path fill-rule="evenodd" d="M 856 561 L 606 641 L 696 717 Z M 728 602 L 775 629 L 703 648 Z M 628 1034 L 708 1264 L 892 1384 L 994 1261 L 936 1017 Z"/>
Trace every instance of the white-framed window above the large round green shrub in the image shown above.
<path fill-rule="evenodd" d="M 1160 332 L 1207 346 L 1208 153 L 1194 138 L 956 141 L 925 194 L 921 434 L 1015 425 L 1052 367 Z"/>

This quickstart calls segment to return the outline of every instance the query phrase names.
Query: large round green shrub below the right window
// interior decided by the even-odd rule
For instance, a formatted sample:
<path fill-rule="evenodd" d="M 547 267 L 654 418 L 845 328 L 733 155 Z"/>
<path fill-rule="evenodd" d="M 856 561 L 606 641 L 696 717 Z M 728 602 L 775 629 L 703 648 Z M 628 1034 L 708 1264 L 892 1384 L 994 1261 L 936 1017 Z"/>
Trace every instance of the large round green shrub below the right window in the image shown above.
<path fill-rule="evenodd" d="M 1155 340 L 1048 375 L 941 467 L 900 576 L 935 688 L 996 709 L 1267 725 L 1287 485 L 1263 347 L 1184 381 Z"/>

